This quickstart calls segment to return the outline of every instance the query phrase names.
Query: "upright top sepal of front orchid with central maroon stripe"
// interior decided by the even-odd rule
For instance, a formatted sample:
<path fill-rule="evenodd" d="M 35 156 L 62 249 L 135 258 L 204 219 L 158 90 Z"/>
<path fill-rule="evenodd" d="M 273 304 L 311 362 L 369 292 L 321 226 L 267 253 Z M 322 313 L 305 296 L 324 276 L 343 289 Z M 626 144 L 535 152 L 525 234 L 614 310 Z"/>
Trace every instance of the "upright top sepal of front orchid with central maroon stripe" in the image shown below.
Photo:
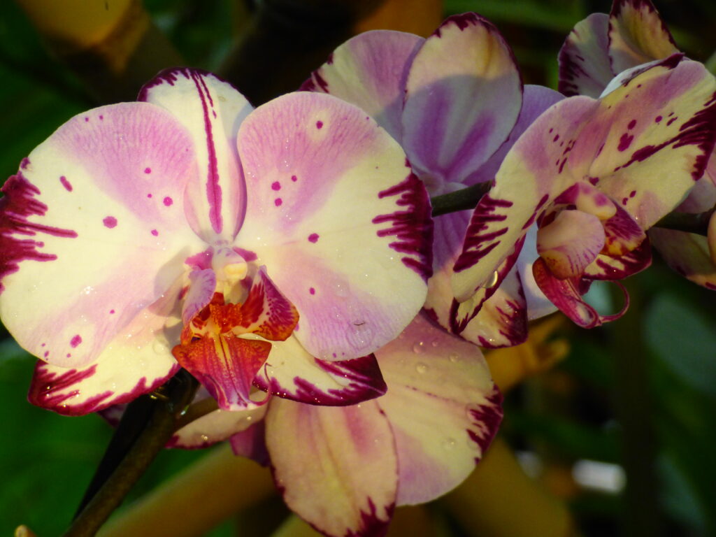
<path fill-rule="evenodd" d="M 198 173 L 185 195 L 191 228 L 208 243 L 231 241 L 246 207 L 236 132 L 251 105 L 216 75 L 185 67 L 160 72 L 145 84 L 139 99 L 172 112 L 193 139 Z"/>

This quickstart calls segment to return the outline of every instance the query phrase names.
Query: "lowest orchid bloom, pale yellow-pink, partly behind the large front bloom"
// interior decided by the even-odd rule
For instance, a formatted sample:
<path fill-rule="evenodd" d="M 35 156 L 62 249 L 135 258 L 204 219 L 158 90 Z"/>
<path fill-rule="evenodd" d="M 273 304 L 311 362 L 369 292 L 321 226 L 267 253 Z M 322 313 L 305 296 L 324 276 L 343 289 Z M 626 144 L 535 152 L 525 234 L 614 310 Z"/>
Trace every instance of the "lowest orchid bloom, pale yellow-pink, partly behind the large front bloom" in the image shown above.
<path fill-rule="evenodd" d="M 311 526 L 327 536 L 384 535 L 396 506 L 433 500 L 468 477 L 500 425 L 502 396 L 480 349 L 425 311 L 375 356 L 387 392 L 374 400 L 272 397 L 252 410 L 210 412 L 170 445 L 204 447 L 233 432 L 234 452 L 269 464 L 286 505 Z"/>

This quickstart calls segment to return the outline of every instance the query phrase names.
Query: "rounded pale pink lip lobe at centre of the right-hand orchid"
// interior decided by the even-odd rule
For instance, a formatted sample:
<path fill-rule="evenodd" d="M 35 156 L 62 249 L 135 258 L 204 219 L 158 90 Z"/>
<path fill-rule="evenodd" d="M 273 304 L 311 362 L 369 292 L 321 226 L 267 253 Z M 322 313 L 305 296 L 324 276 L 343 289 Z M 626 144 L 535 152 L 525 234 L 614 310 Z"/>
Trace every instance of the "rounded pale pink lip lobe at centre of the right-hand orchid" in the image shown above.
<path fill-rule="evenodd" d="M 582 211 L 560 211 L 537 232 L 537 251 L 559 279 L 574 278 L 604 248 L 604 228 L 596 216 Z"/>

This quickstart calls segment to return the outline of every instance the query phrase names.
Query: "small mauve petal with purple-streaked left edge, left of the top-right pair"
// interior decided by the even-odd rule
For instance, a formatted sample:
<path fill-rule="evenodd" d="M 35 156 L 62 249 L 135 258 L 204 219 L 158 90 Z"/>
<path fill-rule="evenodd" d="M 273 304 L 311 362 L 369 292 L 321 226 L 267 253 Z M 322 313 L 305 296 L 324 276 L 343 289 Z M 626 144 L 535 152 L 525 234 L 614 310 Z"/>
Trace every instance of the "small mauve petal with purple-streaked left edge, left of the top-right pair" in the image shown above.
<path fill-rule="evenodd" d="M 614 77 L 609 63 L 609 16 L 593 13 L 579 21 L 559 51 L 559 91 L 595 99 Z"/>

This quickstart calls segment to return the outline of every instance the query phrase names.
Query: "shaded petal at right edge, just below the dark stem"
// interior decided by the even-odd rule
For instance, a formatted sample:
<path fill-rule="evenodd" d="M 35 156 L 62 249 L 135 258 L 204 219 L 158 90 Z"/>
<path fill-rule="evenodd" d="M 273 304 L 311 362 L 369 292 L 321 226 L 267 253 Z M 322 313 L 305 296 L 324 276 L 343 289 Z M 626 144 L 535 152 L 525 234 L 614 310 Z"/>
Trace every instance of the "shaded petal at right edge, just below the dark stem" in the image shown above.
<path fill-rule="evenodd" d="M 706 237 L 683 231 L 651 228 L 649 238 L 674 271 L 697 285 L 716 290 L 716 261 L 711 257 Z"/>

